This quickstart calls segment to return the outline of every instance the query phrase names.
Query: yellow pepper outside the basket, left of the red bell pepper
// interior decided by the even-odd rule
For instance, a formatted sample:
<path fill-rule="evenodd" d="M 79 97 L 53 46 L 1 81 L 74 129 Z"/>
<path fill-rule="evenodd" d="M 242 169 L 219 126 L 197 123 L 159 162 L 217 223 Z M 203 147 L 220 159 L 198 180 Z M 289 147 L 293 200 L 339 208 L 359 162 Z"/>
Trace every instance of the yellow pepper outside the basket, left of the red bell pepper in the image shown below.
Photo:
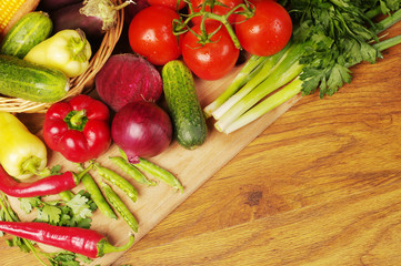
<path fill-rule="evenodd" d="M 18 117 L 0 111 L 0 164 L 9 175 L 26 180 L 50 174 L 44 143 Z"/>

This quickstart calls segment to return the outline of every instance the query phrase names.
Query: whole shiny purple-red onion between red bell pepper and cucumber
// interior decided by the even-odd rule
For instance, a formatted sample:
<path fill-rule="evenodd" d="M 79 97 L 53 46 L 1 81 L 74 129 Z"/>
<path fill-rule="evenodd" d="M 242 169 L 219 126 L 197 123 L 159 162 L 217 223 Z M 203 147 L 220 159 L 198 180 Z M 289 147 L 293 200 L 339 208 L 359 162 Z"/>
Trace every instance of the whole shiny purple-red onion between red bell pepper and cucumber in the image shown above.
<path fill-rule="evenodd" d="M 136 101 L 116 113 L 111 135 L 128 161 L 138 163 L 139 156 L 156 156 L 170 145 L 172 124 L 168 113 L 156 103 Z"/>

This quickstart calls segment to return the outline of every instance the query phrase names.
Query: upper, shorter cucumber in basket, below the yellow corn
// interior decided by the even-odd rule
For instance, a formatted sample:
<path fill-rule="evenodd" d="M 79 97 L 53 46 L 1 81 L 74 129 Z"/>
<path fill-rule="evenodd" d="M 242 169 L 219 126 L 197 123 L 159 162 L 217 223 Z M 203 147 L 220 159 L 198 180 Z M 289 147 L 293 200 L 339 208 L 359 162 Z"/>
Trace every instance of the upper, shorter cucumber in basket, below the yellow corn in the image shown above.
<path fill-rule="evenodd" d="M 0 53 L 23 58 L 34 45 L 46 40 L 53 30 L 48 13 L 34 11 L 23 16 L 6 34 Z"/>

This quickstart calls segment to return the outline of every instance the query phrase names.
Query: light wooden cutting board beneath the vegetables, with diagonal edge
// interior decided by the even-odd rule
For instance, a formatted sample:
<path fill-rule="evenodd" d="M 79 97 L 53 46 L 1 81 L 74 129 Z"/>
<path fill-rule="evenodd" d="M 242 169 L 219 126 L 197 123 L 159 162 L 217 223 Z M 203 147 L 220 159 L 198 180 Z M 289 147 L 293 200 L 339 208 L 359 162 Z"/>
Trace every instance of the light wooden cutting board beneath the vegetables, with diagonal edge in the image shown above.
<path fill-rule="evenodd" d="M 219 81 L 202 81 L 196 79 L 197 91 L 202 106 L 213 101 L 230 83 L 234 75 L 240 71 L 237 66 L 227 76 Z M 139 198 L 132 203 L 119 188 L 113 187 L 114 191 L 122 197 L 122 200 L 130 207 L 139 222 L 139 232 L 134 234 L 136 242 L 143 237 L 150 229 L 160 223 L 169 213 L 179 206 L 188 196 L 197 191 L 204 182 L 215 174 L 225 163 L 235 156 L 243 147 L 253 141 L 262 131 L 264 131 L 272 122 L 274 122 L 281 114 L 291 108 L 299 98 L 294 98 L 264 115 L 262 119 L 243 127 L 231 134 L 218 132 L 213 127 L 213 120 L 208 120 L 208 139 L 205 143 L 197 150 L 189 151 L 181 147 L 173 141 L 170 147 L 162 154 L 149 158 L 149 161 L 169 170 L 173 173 L 184 186 L 184 192 L 179 193 L 174 188 L 159 182 L 157 186 L 143 186 L 130 180 L 123 172 L 117 168 L 108 158 L 112 155 L 119 155 L 118 147 L 113 144 L 110 150 L 99 157 L 99 162 L 111 170 L 126 176 L 138 190 Z M 40 135 L 40 134 L 39 134 Z M 77 171 L 76 166 L 68 162 L 61 154 L 49 151 L 49 166 L 62 165 L 62 171 Z M 94 178 L 96 172 L 91 172 Z M 152 178 L 151 176 L 149 176 Z M 154 180 L 154 178 L 153 178 Z M 82 185 L 76 187 L 74 192 L 82 190 Z M 10 202 L 18 212 L 22 221 L 31 221 L 32 214 L 27 215 L 19 209 L 19 201 L 10 197 Z M 122 218 L 112 221 L 101 213 L 96 212 L 92 222 L 92 228 L 104 234 L 113 245 L 123 245 L 127 243 L 130 234 L 130 228 Z M 43 247 L 52 252 L 53 248 Z M 110 265 L 118 259 L 122 254 L 113 253 L 93 260 L 91 265 Z"/>

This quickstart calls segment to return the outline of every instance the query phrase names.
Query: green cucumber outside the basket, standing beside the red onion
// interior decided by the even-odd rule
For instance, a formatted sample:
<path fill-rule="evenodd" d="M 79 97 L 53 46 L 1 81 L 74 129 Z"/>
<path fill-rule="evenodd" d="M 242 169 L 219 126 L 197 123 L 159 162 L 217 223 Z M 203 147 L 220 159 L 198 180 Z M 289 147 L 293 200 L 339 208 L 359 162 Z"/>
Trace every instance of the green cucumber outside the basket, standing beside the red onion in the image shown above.
<path fill-rule="evenodd" d="M 162 80 L 177 142 L 188 150 L 202 145 L 207 139 L 208 126 L 192 72 L 182 61 L 173 60 L 164 64 Z"/>

